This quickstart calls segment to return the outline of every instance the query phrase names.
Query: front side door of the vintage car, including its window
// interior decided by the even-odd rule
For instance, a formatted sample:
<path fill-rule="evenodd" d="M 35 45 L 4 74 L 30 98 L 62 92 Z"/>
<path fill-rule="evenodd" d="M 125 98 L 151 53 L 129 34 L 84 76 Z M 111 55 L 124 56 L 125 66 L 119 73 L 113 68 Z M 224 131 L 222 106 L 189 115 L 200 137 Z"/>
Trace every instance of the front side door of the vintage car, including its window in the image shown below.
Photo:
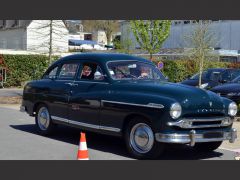
<path fill-rule="evenodd" d="M 107 93 L 109 86 L 103 74 L 99 64 L 88 61 L 81 63 L 69 98 L 70 123 L 83 129 L 99 129 L 101 97 Z"/>

